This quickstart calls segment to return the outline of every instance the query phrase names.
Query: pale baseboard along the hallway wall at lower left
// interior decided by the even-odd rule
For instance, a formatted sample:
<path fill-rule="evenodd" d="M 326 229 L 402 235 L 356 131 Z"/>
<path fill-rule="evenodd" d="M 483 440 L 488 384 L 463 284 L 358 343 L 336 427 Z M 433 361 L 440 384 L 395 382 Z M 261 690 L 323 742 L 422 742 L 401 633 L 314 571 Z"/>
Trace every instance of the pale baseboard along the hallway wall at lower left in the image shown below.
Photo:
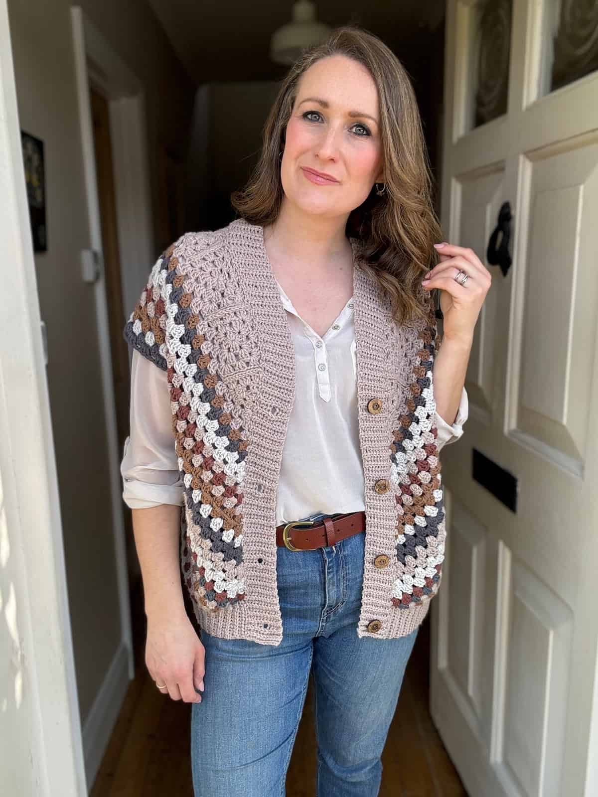
<path fill-rule="evenodd" d="M 128 650 L 124 642 L 120 642 L 83 724 L 83 756 L 88 791 L 92 789 L 104 752 L 108 747 L 128 684 Z"/>

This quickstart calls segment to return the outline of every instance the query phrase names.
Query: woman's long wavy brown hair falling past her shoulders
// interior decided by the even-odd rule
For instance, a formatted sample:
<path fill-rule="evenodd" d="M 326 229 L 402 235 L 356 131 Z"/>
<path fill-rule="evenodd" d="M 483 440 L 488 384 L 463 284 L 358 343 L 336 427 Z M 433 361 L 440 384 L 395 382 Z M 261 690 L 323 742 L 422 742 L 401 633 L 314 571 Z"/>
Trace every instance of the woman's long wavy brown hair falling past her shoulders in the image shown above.
<path fill-rule="evenodd" d="M 368 198 L 348 216 L 346 234 L 359 241 L 360 259 L 391 301 L 399 323 L 423 320 L 433 312 L 423 274 L 438 262 L 433 243 L 442 230 L 431 201 L 431 172 L 422 121 L 407 70 L 395 54 L 359 26 L 332 31 L 321 45 L 305 50 L 290 67 L 262 132 L 262 151 L 250 179 L 230 201 L 238 215 L 266 226 L 280 212 L 283 190 L 279 154 L 297 97 L 301 76 L 310 66 L 333 55 L 364 65 L 378 89 L 380 139 L 386 190 Z"/>

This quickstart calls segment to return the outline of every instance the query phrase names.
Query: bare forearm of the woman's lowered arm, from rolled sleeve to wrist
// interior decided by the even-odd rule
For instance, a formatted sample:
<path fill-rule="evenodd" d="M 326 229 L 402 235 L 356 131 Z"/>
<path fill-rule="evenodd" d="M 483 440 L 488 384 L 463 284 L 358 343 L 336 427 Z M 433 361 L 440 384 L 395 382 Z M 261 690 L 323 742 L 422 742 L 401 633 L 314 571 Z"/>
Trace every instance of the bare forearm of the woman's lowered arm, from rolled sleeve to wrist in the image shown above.
<path fill-rule="evenodd" d="M 180 512 L 179 506 L 171 504 L 132 509 L 148 618 L 185 614 L 180 581 Z"/>

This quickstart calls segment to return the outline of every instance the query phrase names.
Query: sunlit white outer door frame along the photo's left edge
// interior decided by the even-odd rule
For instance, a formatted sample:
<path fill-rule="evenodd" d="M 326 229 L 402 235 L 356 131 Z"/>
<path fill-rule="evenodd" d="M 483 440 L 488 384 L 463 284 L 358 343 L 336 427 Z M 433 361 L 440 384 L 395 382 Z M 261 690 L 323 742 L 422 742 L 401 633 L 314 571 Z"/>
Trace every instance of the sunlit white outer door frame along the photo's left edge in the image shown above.
<path fill-rule="evenodd" d="M 2 653 L 0 791 L 81 797 L 81 724 L 19 128 L 0 0 L 0 618 L 2 641 L 7 631 L 11 639 Z"/>

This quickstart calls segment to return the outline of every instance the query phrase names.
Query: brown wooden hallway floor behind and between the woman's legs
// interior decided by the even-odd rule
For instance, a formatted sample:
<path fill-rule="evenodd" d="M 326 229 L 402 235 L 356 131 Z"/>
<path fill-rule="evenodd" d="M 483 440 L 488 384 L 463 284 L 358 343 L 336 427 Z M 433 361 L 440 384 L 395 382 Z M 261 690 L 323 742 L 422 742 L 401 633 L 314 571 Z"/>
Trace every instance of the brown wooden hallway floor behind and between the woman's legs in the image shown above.
<path fill-rule="evenodd" d="M 90 797 L 193 797 L 188 755 L 191 706 L 171 701 L 155 688 L 144 666 L 144 618 L 139 599 L 134 599 L 132 606 L 136 677 L 129 685 Z M 429 646 L 427 618 L 407 665 L 384 748 L 380 797 L 467 797 L 427 710 Z M 408 752 L 405 738 L 410 740 Z M 310 685 L 287 775 L 287 797 L 315 797 L 315 772 Z"/>

